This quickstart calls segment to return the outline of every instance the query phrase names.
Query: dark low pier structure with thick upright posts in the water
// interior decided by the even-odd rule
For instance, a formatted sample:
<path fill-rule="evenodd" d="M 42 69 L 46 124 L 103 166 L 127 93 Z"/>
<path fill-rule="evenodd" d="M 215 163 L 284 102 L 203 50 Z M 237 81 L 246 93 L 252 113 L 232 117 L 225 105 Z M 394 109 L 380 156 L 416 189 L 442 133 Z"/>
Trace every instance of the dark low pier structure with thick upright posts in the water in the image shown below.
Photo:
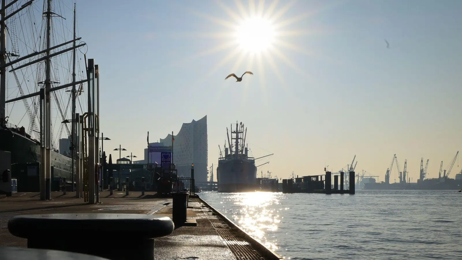
<path fill-rule="evenodd" d="M 282 180 L 283 193 L 325 193 L 354 194 L 354 172 L 348 175 L 349 189 L 344 189 L 345 173 L 326 172 L 323 175 L 309 175 Z M 332 178 L 333 177 L 333 178 Z M 339 180 L 340 179 L 340 180 Z M 339 185 L 340 184 L 340 185 Z"/>

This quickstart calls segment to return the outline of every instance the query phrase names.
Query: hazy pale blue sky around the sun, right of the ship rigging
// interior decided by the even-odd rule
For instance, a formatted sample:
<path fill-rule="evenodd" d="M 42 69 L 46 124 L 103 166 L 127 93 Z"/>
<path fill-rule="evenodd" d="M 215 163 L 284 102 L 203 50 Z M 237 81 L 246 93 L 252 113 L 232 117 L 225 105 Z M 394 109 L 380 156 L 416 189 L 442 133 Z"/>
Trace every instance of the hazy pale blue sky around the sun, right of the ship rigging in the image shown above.
<path fill-rule="evenodd" d="M 78 36 L 100 66 L 109 153 L 121 145 L 122 156 L 142 157 L 147 131 L 154 142 L 205 115 L 209 166 L 238 121 L 251 155 L 274 153 L 258 173 L 280 178 L 338 171 L 356 155 L 356 172 L 383 181 L 396 154 L 415 182 L 421 157 L 433 178 L 461 149 L 459 0 L 132 3 L 77 1 Z M 255 10 L 274 31 L 265 50 L 237 37 Z"/>

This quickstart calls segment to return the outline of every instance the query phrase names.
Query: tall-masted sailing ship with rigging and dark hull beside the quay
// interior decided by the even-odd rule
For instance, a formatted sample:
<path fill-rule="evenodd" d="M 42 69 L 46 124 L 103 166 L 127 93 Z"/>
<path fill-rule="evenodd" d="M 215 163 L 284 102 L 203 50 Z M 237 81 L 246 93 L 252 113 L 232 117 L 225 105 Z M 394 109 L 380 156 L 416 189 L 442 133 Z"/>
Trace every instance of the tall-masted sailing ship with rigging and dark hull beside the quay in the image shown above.
<path fill-rule="evenodd" d="M 1 0 L 0 150 L 11 152 L 12 178 L 18 179 L 18 192 L 38 192 L 44 185 L 41 180 L 45 179 L 53 190 L 61 177 L 66 177 L 73 186 L 73 159 L 79 156 L 74 153 L 74 146 L 78 143 L 74 145 L 77 137 L 76 100 L 80 107 L 85 107 L 82 103 L 86 103 L 83 100 L 85 95 L 80 96 L 87 82 L 85 64 L 80 62 L 80 56 L 85 54 L 77 52 L 85 43 L 79 42 L 81 38 L 76 37 L 75 4 L 72 39 L 55 44 L 58 36 L 65 36 L 69 31 L 67 28 L 72 28 L 64 24 L 64 9 L 68 7 L 52 0 L 44 0 L 43 4 L 39 2 Z M 37 21 L 39 19 L 42 22 Z M 7 76 L 11 75 L 9 79 L 14 80 L 8 80 Z M 62 81 L 68 83 L 63 84 Z M 6 96 L 7 85 L 14 86 L 12 83 L 18 89 L 16 98 Z M 30 93 L 25 94 L 24 89 Z M 22 121 L 21 118 L 10 118 L 14 110 L 7 114 L 6 104 L 12 104 L 10 107 L 18 110 L 18 105 L 15 106 L 18 101 L 24 103 L 24 116 L 29 119 L 27 129 L 18 127 L 19 124 L 27 125 L 27 122 L 11 123 L 18 122 L 16 119 Z M 69 105 L 72 111 L 68 117 Z M 59 111 L 55 117 L 51 113 L 52 106 L 53 110 Z M 20 115 L 21 112 L 14 114 Z M 55 119 L 54 128 L 52 118 Z M 67 155 L 60 154 L 58 150 L 64 130 L 70 139 L 70 154 Z M 41 176 L 45 179 L 39 179 Z"/>

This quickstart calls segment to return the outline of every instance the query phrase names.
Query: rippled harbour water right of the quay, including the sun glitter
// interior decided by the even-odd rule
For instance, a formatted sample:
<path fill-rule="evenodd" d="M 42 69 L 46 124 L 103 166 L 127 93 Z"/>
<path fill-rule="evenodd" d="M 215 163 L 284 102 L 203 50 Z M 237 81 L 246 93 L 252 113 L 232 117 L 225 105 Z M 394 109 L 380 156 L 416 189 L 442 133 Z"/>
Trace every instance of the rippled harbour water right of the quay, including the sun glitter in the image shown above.
<path fill-rule="evenodd" d="M 462 259 L 459 192 L 200 196 L 285 259 Z"/>

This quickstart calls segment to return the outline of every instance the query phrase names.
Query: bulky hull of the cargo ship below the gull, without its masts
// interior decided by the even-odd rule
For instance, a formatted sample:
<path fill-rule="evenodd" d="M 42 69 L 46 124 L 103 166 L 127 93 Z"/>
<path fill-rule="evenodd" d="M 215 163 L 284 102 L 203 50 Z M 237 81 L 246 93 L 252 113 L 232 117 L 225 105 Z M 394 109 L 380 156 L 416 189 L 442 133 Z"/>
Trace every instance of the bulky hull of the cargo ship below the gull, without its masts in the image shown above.
<path fill-rule="evenodd" d="M 246 160 L 223 160 L 217 167 L 219 192 L 255 192 L 257 167 Z"/>

